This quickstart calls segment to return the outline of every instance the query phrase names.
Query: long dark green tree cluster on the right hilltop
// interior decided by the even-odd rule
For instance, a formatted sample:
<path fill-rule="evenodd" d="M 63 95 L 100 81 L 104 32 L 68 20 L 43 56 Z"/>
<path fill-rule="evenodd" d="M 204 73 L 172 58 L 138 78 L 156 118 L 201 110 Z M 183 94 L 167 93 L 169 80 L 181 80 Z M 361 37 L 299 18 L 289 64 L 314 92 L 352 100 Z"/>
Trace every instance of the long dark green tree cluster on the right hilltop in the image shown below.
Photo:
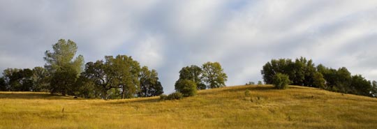
<path fill-rule="evenodd" d="M 299 86 L 311 86 L 352 93 L 362 96 L 377 96 L 377 82 L 369 81 L 362 75 L 351 75 L 347 68 L 327 68 L 322 64 L 316 66 L 311 59 L 304 57 L 295 59 L 272 59 L 261 70 L 264 82 L 274 84 L 276 75 L 281 73 L 290 79 L 290 84 Z M 279 75 L 282 77 L 281 75 Z"/>

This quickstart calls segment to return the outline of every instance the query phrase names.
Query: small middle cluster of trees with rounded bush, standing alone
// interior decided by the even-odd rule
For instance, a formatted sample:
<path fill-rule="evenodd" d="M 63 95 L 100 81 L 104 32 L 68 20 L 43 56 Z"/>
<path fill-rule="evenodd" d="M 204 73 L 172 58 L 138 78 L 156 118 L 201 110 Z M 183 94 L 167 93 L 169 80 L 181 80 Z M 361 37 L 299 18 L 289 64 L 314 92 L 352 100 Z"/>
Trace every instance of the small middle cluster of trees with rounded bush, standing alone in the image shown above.
<path fill-rule="evenodd" d="M 219 62 L 207 62 L 199 66 L 186 66 L 179 70 L 175 90 L 183 96 L 195 96 L 197 90 L 214 89 L 226 86 L 228 76 Z"/>

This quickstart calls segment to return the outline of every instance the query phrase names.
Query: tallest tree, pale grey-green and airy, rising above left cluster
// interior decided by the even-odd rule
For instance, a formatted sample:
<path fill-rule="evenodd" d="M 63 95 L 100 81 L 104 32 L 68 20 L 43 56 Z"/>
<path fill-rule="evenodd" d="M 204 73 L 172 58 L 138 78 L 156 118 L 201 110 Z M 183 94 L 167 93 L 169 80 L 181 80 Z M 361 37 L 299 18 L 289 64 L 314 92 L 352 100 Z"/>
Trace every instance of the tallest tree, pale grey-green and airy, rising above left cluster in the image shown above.
<path fill-rule="evenodd" d="M 66 91 L 66 86 L 63 86 L 62 84 L 71 83 L 68 84 L 69 86 L 75 85 L 75 82 L 72 82 L 72 80 L 77 79 L 78 75 L 82 72 L 82 66 L 84 64 L 84 57 L 82 55 L 77 56 L 74 60 L 75 54 L 77 52 L 77 45 L 72 40 L 64 40 L 60 39 L 57 43 L 52 45 L 53 52 L 50 52 L 47 50 L 45 52 L 45 68 L 49 72 L 50 75 L 52 75 L 54 80 L 50 80 L 50 86 L 52 90 L 51 93 L 54 93 L 56 91 Z M 59 72 L 59 73 L 57 73 Z M 69 73 L 68 76 L 59 76 L 63 73 Z M 71 78 L 71 74 L 75 73 L 75 78 Z M 70 80 L 64 80 L 68 79 Z M 72 76 L 73 77 L 73 76 Z M 59 82 L 61 81 L 61 82 Z M 57 84 L 54 84 L 57 83 Z M 54 86 L 63 86 L 61 88 L 54 87 Z M 64 90 L 56 90 L 56 89 L 64 89 Z M 62 93 L 66 94 L 66 93 Z"/>

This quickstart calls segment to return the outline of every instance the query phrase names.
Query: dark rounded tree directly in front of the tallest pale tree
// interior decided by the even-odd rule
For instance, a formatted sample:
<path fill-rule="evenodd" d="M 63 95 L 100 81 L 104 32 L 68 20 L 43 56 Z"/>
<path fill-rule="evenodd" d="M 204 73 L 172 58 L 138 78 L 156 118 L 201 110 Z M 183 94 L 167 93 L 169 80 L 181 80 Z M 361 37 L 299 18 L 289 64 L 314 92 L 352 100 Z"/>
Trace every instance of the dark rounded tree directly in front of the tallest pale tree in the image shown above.
<path fill-rule="evenodd" d="M 58 68 L 50 79 L 50 93 L 61 93 L 61 95 L 75 95 L 77 86 L 77 71 L 71 66 Z"/>

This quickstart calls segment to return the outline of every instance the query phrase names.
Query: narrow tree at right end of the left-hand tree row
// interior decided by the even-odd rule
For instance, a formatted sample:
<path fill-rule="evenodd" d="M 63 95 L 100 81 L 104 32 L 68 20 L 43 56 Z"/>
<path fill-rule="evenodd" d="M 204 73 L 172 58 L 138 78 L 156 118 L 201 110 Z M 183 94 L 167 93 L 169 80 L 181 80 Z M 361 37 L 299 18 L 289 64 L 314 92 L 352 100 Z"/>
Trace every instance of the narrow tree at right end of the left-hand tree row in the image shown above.
<path fill-rule="evenodd" d="M 156 70 L 149 70 L 147 66 L 142 67 L 140 72 L 139 97 L 160 96 L 163 93 L 163 86 L 158 81 Z"/>

